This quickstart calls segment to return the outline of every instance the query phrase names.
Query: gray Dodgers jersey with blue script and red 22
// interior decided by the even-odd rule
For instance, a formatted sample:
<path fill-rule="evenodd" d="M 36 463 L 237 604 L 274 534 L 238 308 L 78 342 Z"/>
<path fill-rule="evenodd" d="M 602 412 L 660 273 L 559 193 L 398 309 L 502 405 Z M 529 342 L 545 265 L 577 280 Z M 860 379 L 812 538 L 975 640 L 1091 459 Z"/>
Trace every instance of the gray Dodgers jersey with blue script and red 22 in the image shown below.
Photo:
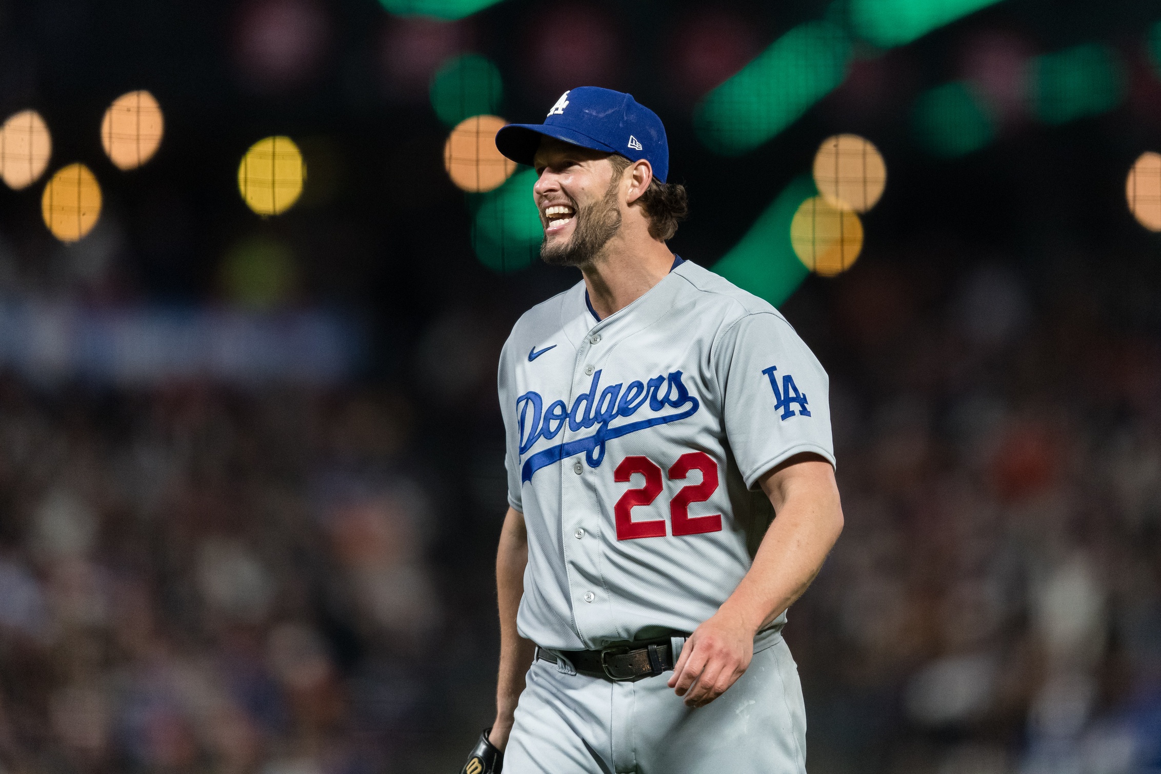
<path fill-rule="evenodd" d="M 557 650 L 693 631 L 750 567 L 763 473 L 834 464 L 827 372 L 766 302 L 680 262 L 598 320 L 584 282 L 526 312 L 499 367 L 520 635 Z"/>

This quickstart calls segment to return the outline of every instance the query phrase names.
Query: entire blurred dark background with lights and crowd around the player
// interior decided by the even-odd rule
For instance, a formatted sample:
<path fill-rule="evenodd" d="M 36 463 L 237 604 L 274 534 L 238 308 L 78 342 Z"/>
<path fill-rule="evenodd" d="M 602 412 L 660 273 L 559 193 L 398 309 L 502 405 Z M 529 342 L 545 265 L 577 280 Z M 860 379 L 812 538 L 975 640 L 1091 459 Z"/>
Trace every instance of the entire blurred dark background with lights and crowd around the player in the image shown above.
<path fill-rule="evenodd" d="M 812 774 L 1161 769 L 1155 1 L 7 0 L 0 772 L 457 771 L 578 85 L 831 375 Z"/>

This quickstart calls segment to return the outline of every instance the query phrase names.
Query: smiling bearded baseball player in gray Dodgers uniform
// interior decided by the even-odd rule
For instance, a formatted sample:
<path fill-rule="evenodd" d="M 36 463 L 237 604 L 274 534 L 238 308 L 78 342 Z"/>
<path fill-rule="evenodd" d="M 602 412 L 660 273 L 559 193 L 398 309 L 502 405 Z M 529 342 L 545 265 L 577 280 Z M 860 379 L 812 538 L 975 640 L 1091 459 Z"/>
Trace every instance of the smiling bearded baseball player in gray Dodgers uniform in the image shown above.
<path fill-rule="evenodd" d="M 843 525 L 827 374 L 669 251 L 685 190 L 630 95 L 575 88 L 496 144 L 583 280 L 500 355 L 497 710 L 463 772 L 803 774 L 781 628 Z"/>

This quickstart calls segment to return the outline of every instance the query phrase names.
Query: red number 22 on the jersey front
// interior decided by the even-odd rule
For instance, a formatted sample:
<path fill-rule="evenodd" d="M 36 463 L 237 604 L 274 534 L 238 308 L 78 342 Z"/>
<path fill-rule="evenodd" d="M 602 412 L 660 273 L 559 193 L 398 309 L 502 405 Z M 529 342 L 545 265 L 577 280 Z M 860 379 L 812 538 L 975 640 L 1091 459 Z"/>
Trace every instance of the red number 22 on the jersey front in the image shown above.
<path fill-rule="evenodd" d="M 673 495 L 669 502 L 670 521 L 673 525 L 673 535 L 699 535 L 701 533 L 717 533 L 722 528 L 722 516 L 720 513 L 707 516 L 690 516 L 691 502 L 705 502 L 717 490 L 717 463 L 705 451 L 690 451 L 678 457 L 673 466 L 669 469 L 669 479 L 679 480 L 688 476 L 691 470 L 701 471 L 700 484 L 688 484 Z M 613 506 L 613 515 L 616 521 L 616 540 L 627 541 L 636 537 L 664 537 L 665 520 L 651 519 L 649 521 L 633 521 L 633 508 L 639 505 L 652 505 L 663 489 L 661 483 L 661 466 L 649 457 L 626 457 L 613 471 L 613 480 L 625 484 L 630 480 L 633 473 L 641 473 L 646 477 L 646 485 L 630 489 Z"/>

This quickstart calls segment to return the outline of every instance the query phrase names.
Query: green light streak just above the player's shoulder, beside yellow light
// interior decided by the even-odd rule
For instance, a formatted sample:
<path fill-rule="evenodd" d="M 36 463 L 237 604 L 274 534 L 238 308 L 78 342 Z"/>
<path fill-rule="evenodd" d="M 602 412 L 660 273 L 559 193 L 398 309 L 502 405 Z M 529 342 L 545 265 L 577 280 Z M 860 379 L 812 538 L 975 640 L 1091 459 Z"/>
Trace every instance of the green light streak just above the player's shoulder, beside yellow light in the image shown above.
<path fill-rule="evenodd" d="M 789 298 L 810 273 L 791 246 L 791 220 L 817 193 L 810 175 L 792 180 L 713 270 L 774 306 Z"/>

